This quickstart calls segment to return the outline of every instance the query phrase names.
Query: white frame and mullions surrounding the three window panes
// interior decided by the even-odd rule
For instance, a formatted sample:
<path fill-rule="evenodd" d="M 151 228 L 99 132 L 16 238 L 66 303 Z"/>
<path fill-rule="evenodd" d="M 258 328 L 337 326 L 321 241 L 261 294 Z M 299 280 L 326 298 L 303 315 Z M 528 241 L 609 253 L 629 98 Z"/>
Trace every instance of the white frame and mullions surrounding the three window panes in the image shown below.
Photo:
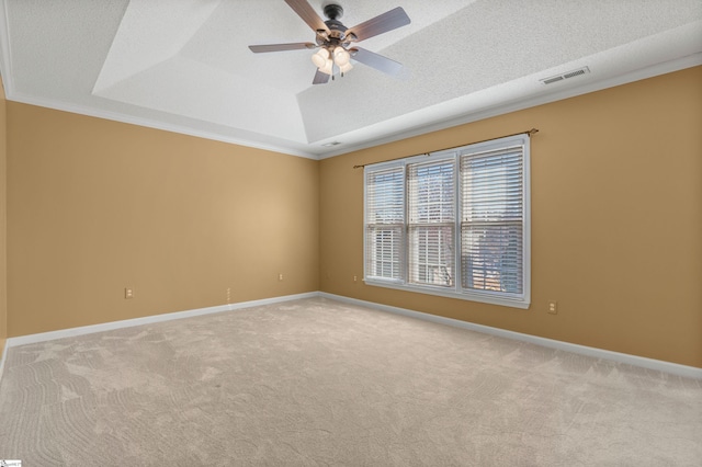
<path fill-rule="evenodd" d="M 517 146 L 522 147 L 522 293 L 507 293 L 507 292 L 492 292 L 492 291 L 477 291 L 463 288 L 463 264 L 462 264 L 462 198 L 463 186 L 461 182 L 461 158 L 465 155 L 476 155 L 482 152 L 499 151 Z M 494 139 L 484 143 L 477 143 L 472 145 L 462 146 L 458 148 L 446 149 L 438 152 L 432 152 L 427 156 L 414 156 L 399 160 L 393 160 L 388 162 L 378 162 L 375 164 L 366 166 L 363 174 L 363 281 L 366 285 L 393 288 L 398 291 L 414 292 L 420 294 L 435 295 L 449 298 L 458 298 L 469 301 L 478 301 L 485 304 L 500 305 L 507 307 L 526 309 L 531 304 L 531 150 L 530 150 L 530 137 L 529 134 L 521 134 L 516 136 L 509 136 L 505 138 Z M 409 182 L 408 182 L 408 166 L 415 163 L 428 163 L 438 162 L 454 158 L 454 214 L 455 221 L 453 226 L 454 231 L 454 278 L 453 286 L 437 286 L 429 284 L 416 284 L 409 280 Z M 404 174 L 404 225 L 401 229 L 401 244 L 400 250 L 400 280 L 385 280 L 382 277 L 374 277 L 369 275 L 369 238 L 367 231 L 371 225 L 366 218 L 369 213 L 369 173 L 377 170 L 387 170 L 392 168 L 401 167 Z"/>

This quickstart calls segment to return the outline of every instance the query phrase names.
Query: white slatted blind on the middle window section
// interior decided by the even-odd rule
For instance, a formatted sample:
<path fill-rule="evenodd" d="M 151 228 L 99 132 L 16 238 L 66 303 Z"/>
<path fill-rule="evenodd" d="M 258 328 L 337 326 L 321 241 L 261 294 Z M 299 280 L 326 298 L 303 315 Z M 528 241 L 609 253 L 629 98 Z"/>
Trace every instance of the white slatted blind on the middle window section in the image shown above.
<path fill-rule="evenodd" d="M 455 160 L 408 166 L 409 282 L 451 287 L 455 264 Z"/>

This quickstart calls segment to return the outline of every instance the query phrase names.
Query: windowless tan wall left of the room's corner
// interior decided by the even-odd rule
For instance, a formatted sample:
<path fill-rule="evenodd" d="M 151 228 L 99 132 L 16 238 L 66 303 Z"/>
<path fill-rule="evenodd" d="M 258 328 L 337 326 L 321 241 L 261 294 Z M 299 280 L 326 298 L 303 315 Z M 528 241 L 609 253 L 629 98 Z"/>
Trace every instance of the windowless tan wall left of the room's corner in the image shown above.
<path fill-rule="evenodd" d="M 315 160 L 15 102 L 8 141 L 9 337 L 319 289 Z"/>

